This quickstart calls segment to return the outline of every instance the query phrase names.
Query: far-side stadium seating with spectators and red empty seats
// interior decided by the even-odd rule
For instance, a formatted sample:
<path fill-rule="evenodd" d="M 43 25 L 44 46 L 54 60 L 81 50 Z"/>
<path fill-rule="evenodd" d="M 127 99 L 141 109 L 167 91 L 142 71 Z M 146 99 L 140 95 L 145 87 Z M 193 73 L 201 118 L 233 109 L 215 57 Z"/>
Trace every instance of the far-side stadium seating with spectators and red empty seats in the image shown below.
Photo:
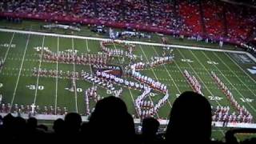
<path fill-rule="evenodd" d="M 217 1 L 48 0 L 0 2 L 0 14 L 47 14 L 143 24 L 210 38 L 243 42 L 255 29 L 255 10 Z"/>

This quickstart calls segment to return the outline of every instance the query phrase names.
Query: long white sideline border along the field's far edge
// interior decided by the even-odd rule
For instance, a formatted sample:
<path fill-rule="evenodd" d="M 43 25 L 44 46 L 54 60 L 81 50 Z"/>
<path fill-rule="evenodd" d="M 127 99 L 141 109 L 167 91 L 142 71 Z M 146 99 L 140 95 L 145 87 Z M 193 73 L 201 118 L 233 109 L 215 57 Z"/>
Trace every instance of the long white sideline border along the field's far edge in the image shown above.
<path fill-rule="evenodd" d="M 79 38 L 79 39 L 90 39 L 90 40 L 96 40 L 96 41 L 112 41 L 112 39 L 110 38 L 93 38 L 93 37 L 84 37 L 84 36 L 68 35 L 68 34 L 49 34 L 49 33 L 26 31 L 26 30 L 10 30 L 10 29 L 0 28 L 0 31 L 12 32 L 12 33 L 15 32 L 19 34 L 45 35 L 45 36 L 62 37 L 62 38 Z M 125 40 L 114 40 L 114 41 L 126 42 L 126 43 L 132 43 L 132 44 L 141 44 L 141 45 L 147 45 L 147 46 L 169 46 L 174 48 L 182 48 L 182 49 L 190 49 L 190 50 L 208 50 L 208 51 L 221 51 L 221 52 L 229 52 L 229 53 L 237 53 L 237 54 L 247 54 L 250 58 L 254 60 L 254 62 L 256 62 L 256 58 L 254 58 L 250 53 L 246 51 L 212 49 L 212 48 L 205 48 L 205 47 L 198 47 L 198 46 L 165 45 L 162 43 L 153 43 L 153 42 L 136 42 L 136 41 L 125 41 Z"/>

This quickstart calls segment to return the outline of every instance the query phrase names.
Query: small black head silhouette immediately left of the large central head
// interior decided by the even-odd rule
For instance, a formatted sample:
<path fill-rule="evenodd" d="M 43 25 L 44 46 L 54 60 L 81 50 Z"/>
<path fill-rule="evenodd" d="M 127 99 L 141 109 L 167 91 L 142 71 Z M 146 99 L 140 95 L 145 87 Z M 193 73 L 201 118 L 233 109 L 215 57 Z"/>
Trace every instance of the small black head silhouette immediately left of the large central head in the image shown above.
<path fill-rule="evenodd" d="M 78 113 L 69 113 L 66 114 L 64 122 L 67 130 L 66 132 L 70 134 L 76 134 L 80 130 L 82 118 Z"/>

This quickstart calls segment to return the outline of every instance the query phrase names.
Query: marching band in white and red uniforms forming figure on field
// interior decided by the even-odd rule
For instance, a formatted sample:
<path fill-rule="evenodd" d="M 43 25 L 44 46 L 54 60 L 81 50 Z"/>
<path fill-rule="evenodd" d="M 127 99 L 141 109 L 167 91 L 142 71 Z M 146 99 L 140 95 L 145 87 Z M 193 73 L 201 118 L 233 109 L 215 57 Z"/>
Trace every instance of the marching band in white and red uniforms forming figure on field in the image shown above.
<path fill-rule="evenodd" d="M 121 42 L 114 42 L 120 44 Z M 165 54 L 162 57 L 152 57 L 150 58 L 150 62 L 130 62 L 128 66 L 125 67 L 126 76 L 130 76 L 138 82 L 132 82 L 125 78 L 120 78 L 114 74 L 107 73 L 107 70 L 111 68 L 108 67 L 107 62 L 110 58 L 113 57 L 127 57 L 130 59 L 135 59 L 136 56 L 132 53 L 134 50 L 134 45 L 126 44 L 125 50 L 119 49 L 110 49 L 107 46 L 113 44 L 112 41 L 100 42 L 100 46 L 102 48 L 103 54 L 82 54 L 78 56 L 77 51 L 72 52 L 58 52 L 54 53 L 51 50 L 48 50 L 47 47 L 36 47 L 35 49 L 38 52 L 41 52 L 42 58 L 47 62 L 60 62 L 67 64 L 79 64 L 79 65 L 92 65 L 96 66 L 96 69 L 104 69 L 106 71 L 97 70 L 95 74 L 89 74 L 82 70 L 82 72 L 74 72 L 74 71 L 62 71 L 62 70 L 46 70 L 46 69 L 37 69 L 34 67 L 32 70 L 34 76 L 41 77 L 51 77 L 51 78 L 68 78 L 72 80 L 72 88 L 74 89 L 76 80 L 83 79 L 87 82 L 91 82 L 94 86 L 84 91 L 84 101 L 86 102 L 86 115 L 91 114 L 90 110 L 90 101 L 98 102 L 98 100 L 102 99 L 102 97 L 97 93 L 98 86 L 102 86 L 106 90 L 110 90 L 111 94 L 114 94 L 116 97 L 120 97 L 122 94 L 122 88 L 120 90 L 115 90 L 114 84 L 118 86 L 125 86 L 130 89 L 140 90 L 142 94 L 139 95 L 134 100 L 135 110 L 138 113 L 140 118 L 153 117 L 158 113 L 158 110 L 168 101 L 169 92 L 167 90 L 166 84 L 158 82 L 153 78 L 150 78 L 146 75 L 142 75 L 139 70 L 145 70 L 147 68 L 152 68 L 154 66 L 164 65 L 166 63 L 173 62 L 174 54 Z M 173 50 L 170 50 L 171 52 Z M 141 58 L 142 59 L 142 58 Z M 3 66 L 4 61 L 0 60 L 0 69 Z M 113 66 L 112 66 L 113 67 Z M 120 68 L 119 68 L 120 69 Z M 194 77 L 194 75 L 190 75 L 187 70 L 183 72 L 190 86 L 193 88 L 195 92 L 198 94 L 202 94 L 202 86 L 198 82 L 198 79 Z M 218 76 L 211 71 L 211 76 L 214 78 L 214 82 L 218 84 L 218 87 L 222 89 L 222 92 L 226 95 L 232 106 L 234 106 L 237 112 L 233 112 L 230 114 L 229 106 L 217 106 L 217 108 L 212 107 L 213 116 L 212 119 L 214 122 L 245 122 L 251 123 L 253 122 L 253 116 L 250 114 L 248 110 L 246 110 L 245 106 L 240 106 L 238 102 L 234 99 L 233 94 L 228 90 L 225 84 L 218 78 Z M 158 91 L 161 94 L 164 94 L 163 97 L 154 104 L 154 102 L 150 99 L 150 94 L 152 90 Z M 203 95 L 203 94 L 202 94 Z M 148 100 L 146 100 L 148 98 Z M 10 112 L 10 103 L 4 104 L 2 103 L 2 96 L 0 98 L 0 112 L 7 113 Z M 18 104 L 14 104 L 14 113 L 19 114 L 30 114 L 31 110 L 34 111 L 35 114 L 67 114 L 68 110 L 66 107 L 60 108 L 57 106 L 55 109 L 53 106 L 44 106 L 41 110 L 39 106 L 18 106 Z"/>

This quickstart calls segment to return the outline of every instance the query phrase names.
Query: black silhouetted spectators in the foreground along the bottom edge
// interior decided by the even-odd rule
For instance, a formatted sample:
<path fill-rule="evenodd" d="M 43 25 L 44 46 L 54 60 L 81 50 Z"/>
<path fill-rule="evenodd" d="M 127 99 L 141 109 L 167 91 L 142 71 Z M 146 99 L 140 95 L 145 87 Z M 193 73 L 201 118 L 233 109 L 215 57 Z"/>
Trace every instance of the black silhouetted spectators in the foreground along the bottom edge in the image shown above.
<path fill-rule="evenodd" d="M 170 111 L 166 132 L 158 132 L 160 123 L 153 117 L 142 120 L 142 132 L 135 132 L 134 120 L 125 102 L 114 96 L 99 100 L 89 122 L 77 113 L 58 118 L 50 130 L 38 125 L 36 118 L 24 119 L 7 114 L 0 116 L 2 142 L 86 142 L 86 143 L 238 143 L 234 134 L 246 130 L 229 130 L 226 142 L 210 139 L 211 106 L 205 97 L 191 91 L 182 93 Z M 256 132 L 255 130 L 250 130 Z M 251 138 L 241 143 L 254 143 Z"/>

